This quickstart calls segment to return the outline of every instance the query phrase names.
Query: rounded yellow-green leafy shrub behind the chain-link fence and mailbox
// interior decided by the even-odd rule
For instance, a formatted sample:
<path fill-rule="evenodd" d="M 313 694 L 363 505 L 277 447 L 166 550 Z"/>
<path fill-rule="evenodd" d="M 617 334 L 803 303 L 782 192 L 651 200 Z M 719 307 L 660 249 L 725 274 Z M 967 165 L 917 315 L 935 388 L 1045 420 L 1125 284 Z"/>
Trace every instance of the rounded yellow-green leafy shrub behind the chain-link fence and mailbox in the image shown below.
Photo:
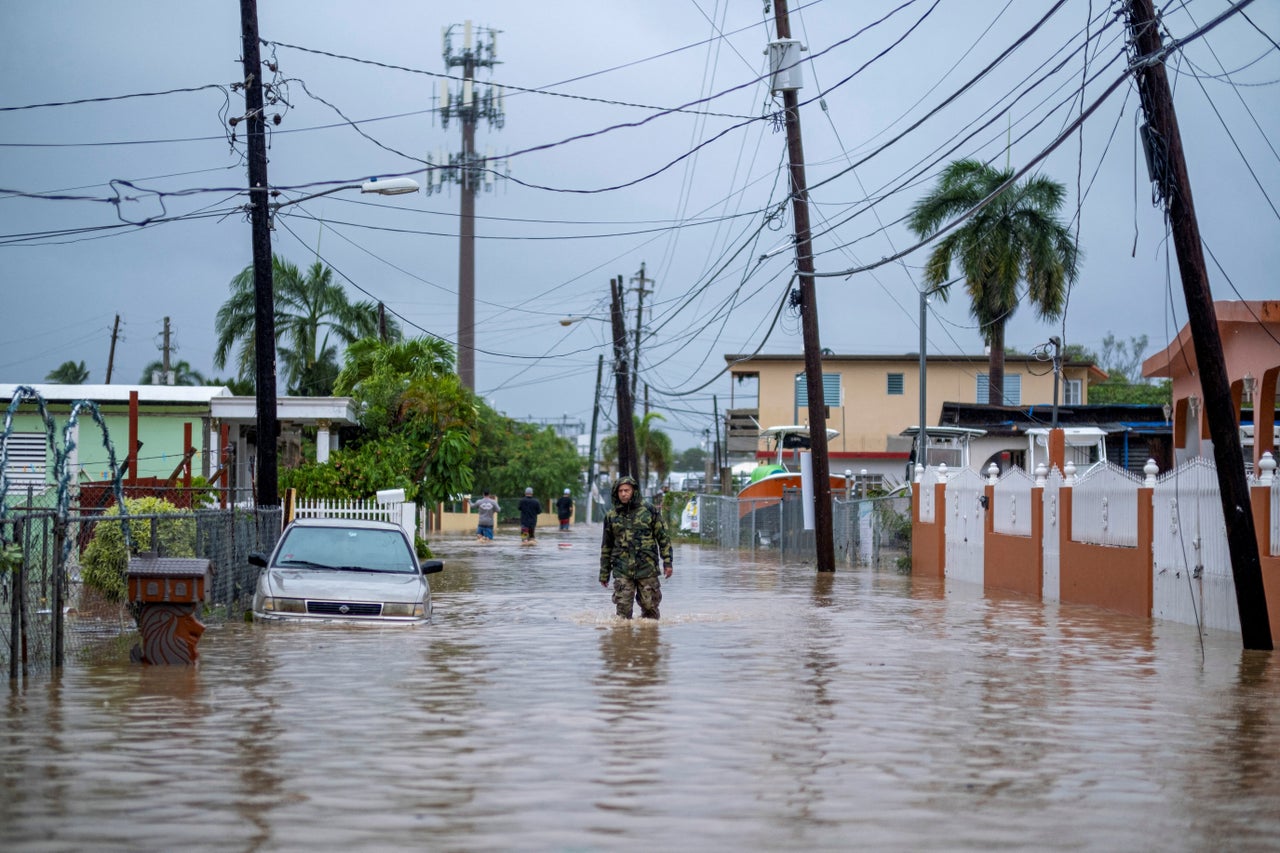
<path fill-rule="evenodd" d="M 129 537 L 133 539 L 133 552 L 159 551 L 165 557 L 196 556 L 196 520 L 191 512 L 182 512 L 164 498 L 143 497 L 125 498 L 124 505 L 131 516 L 166 515 L 183 516 L 156 520 L 156 538 L 151 543 L 151 519 L 131 517 Z M 120 514 L 119 506 L 113 506 L 101 521 L 93 526 L 93 538 L 81 556 L 81 579 L 84 585 L 99 590 L 110 602 L 124 601 L 128 589 L 129 551 L 124 544 L 124 532 L 119 521 L 108 520 Z"/>

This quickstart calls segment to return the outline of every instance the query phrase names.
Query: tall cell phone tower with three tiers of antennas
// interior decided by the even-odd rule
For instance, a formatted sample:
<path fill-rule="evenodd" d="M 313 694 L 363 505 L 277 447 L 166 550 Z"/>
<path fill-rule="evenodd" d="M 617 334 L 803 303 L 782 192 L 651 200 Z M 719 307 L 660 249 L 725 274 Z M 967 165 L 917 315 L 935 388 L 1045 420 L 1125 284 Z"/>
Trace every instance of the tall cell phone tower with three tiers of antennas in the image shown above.
<path fill-rule="evenodd" d="M 462 31 L 462 49 L 454 50 L 453 40 Z M 471 391 L 476 387 L 475 374 L 475 315 L 476 315 L 476 192 L 492 191 L 494 181 L 506 174 L 506 160 L 493 156 L 492 149 L 481 156 L 476 154 L 476 123 L 485 119 L 490 127 L 502 129 L 502 87 L 475 83 L 477 68 L 493 69 L 499 64 L 494 47 L 500 31 L 475 27 L 467 20 L 443 28 L 444 65 L 462 69 L 462 79 L 442 79 L 439 105 L 440 124 L 449 127 L 456 119 L 462 124 L 462 150 L 445 154 L 443 150 L 428 155 L 426 191 L 443 192 L 444 186 L 458 184 L 462 190 L 462 210 L 458 220 L 458 378 Z"/>

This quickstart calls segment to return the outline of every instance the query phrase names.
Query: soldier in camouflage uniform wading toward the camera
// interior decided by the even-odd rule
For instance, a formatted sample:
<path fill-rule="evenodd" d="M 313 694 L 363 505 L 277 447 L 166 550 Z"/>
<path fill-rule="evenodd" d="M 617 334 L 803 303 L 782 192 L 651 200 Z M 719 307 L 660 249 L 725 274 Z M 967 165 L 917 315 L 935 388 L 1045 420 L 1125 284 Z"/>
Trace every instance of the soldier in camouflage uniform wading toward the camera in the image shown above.
<path fill-rule="evenodd" d="M 662 514 L 640 498 L 634 478 L 613 484 L 613 508 L 604 515 L 604 540 L 600 543 L 600 585 L 608 588 L 613 575 L 613 603 L 618 616 L 631 619 L 631 606 L 640 602 L 640 615 L 658 619 L 662 574 L 671 578 L 671 537 Z"/>

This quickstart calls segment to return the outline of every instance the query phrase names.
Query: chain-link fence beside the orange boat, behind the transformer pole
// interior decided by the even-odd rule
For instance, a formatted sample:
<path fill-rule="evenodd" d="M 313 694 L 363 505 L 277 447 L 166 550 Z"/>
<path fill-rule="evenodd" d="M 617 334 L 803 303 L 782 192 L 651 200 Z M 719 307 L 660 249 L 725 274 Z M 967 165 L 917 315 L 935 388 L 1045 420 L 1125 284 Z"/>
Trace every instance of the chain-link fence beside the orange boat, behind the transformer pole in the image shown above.
<path fill-rule="evenodd" d="M 740 500 L 719 494 L 698 498 L 699 535 L 705 544 L 744 551 L 771 549 L 803 560 L 814 553 L 814 532 L 804 529 L 800 491 L 781 500 Z M 910 565 L 911 498 L 832 500 L 836 557 L 849 565 Z"/>

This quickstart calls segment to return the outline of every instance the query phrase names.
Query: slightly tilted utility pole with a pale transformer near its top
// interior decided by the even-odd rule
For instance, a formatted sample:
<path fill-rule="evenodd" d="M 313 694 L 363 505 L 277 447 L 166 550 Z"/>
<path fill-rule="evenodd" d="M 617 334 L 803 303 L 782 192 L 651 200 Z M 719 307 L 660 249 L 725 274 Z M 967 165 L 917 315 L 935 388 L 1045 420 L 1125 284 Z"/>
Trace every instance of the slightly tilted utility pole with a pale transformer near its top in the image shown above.
<path fill-rule="evenodd" d="M 831 517 L 831 465 L 827 459 L 827 411 L 822 387 L 822 345 L 818 339 L 818 295 L 813 279 L 813 243 L 809 232 L 809 191 L 804 175 L 804 146 L 800 140 L 799 82 L 800 44 L 791 40 L 786 0 L 774 0 L 773 17 L 778 38 L 771 47 L 773 91 L 782 91 L 786 114 L 787 151 L 791 159 L 791 209 L 796 232 L 796 272 L 800 275 L 800 325 L 804 332 L 804 374 L 809 392 L 809 450 L 813 455 L 814 560 L 818 571 L 836 570 Z"/>

